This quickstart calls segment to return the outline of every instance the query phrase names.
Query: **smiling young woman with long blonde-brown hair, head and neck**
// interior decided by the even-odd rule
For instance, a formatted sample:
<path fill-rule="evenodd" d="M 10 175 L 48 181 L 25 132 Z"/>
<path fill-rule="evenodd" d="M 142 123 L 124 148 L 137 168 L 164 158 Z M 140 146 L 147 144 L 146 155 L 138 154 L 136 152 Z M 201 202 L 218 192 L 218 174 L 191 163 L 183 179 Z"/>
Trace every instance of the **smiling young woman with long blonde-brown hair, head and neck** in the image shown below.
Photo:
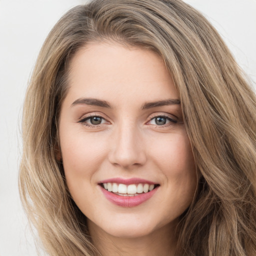
<path fill-rule="evenodd" d="M 256 99 L 180 0 L 94 0 L 38 56 L 19 184 L 49 255 L 254 255 Z"/>

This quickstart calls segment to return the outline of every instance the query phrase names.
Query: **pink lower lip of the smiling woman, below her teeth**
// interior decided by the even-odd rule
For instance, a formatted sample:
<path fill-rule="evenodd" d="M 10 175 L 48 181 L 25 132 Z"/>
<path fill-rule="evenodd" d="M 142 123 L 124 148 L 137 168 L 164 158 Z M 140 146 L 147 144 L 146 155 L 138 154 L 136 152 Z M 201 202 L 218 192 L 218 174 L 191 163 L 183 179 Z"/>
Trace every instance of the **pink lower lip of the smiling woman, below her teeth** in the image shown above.
<path fill-rule="evenodd" d="M 133 207 L 148 200 L 156 192 L 158 187 L 159 186 L 155 187 L 153 190 L 147 193 L 141 193 L 133 196 L 122 196 L 122 195 L 114 194 L 112 192 L 107 191 L 101 186 L 100 186 L 100 189 L 103 192 L 104 196 L 113 204 L 116 204 L 122 207 Z"/>

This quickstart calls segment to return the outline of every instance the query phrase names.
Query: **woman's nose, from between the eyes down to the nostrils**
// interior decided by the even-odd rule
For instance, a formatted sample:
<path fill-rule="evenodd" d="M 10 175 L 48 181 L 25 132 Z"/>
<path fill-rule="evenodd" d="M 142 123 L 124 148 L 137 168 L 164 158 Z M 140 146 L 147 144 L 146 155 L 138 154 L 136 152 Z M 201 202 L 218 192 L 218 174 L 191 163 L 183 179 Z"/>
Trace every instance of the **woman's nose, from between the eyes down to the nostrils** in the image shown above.
<path fill-rule="evenodd" d="M 146 161 L 141 131 L 135 125 L 120 125 L 111 136 L 108 159 L 123 168 L 143 165 Z"/>

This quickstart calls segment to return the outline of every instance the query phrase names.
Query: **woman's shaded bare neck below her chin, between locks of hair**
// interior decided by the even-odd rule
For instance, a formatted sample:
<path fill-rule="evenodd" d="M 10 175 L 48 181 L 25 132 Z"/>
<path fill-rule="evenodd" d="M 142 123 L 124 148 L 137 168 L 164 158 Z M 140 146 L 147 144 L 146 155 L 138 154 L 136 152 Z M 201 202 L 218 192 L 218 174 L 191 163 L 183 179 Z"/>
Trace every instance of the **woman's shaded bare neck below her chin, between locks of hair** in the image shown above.
<path fill-rule="evenodd" d="M 140 237 L 113 236 L 89 220 L 88 227 L 92 242 L 102 256 L 174 255 L 175 227 L 170 225 Z"/>

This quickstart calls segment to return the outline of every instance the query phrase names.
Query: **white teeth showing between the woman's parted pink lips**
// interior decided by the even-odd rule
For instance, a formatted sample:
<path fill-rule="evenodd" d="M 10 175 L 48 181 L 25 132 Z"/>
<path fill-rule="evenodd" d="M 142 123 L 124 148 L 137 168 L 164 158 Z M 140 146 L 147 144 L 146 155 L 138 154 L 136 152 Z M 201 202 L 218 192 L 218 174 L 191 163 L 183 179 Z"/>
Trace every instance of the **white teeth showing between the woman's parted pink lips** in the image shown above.
<path fill-rule="evenodd" d="M 112 192 L 117 195 L 136 196 L 155 189 L 159 184 L 138 183 L 126 185 L 122 183 L 107 182 L 100 183 L 100 186 L 108 192 Z"/>

